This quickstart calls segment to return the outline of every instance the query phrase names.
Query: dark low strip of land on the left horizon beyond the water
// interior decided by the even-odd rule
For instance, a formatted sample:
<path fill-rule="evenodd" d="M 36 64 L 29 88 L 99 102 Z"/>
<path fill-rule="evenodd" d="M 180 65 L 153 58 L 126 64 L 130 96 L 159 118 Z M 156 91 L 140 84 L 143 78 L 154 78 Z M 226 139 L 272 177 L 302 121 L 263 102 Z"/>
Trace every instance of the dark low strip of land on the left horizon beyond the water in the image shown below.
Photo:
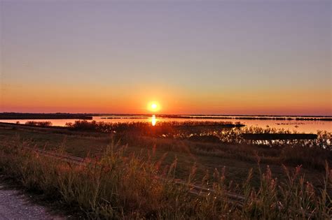
<path fill-rule="evenodd" d="M 86 114 L 69 113 L 0 113 L 0 119 L 92 119 L 92 116 Z"/>

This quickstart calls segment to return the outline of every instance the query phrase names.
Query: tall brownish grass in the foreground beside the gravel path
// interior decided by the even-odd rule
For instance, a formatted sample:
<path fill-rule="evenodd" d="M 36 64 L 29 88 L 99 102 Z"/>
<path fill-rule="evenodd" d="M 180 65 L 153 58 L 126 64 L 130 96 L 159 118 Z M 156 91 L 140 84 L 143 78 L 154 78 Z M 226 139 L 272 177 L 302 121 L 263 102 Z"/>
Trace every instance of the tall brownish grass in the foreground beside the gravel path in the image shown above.
<path fill-rule="evenodd" d="M 279 182 L 270 168 L 260 170 L 260 186 L 251 186 L 252 171 L 243 184 L 226 184 L 225 170 L 207 173 L 193 191 L 195 166 L 186 184 L 177 184 L 177 160 L 167 169 L 162 161 L 146 156 L 124 156 L 125 147 L 112 143 L 98 159 L 84 164 L 60 161 L 27 149 L 16 141 L 1 145 L 1 173 L 27 189 L 62 200 L 89 218 L 102 219 L 331 219 L 332 170 L 326 163 L 322 187 L 306 182 L 300 167 L 284 168 L 287 179 Z M 258 159 L 258 165 L 260 161 Z M 228 192 L 244 196 L 230 199 Z"/>

